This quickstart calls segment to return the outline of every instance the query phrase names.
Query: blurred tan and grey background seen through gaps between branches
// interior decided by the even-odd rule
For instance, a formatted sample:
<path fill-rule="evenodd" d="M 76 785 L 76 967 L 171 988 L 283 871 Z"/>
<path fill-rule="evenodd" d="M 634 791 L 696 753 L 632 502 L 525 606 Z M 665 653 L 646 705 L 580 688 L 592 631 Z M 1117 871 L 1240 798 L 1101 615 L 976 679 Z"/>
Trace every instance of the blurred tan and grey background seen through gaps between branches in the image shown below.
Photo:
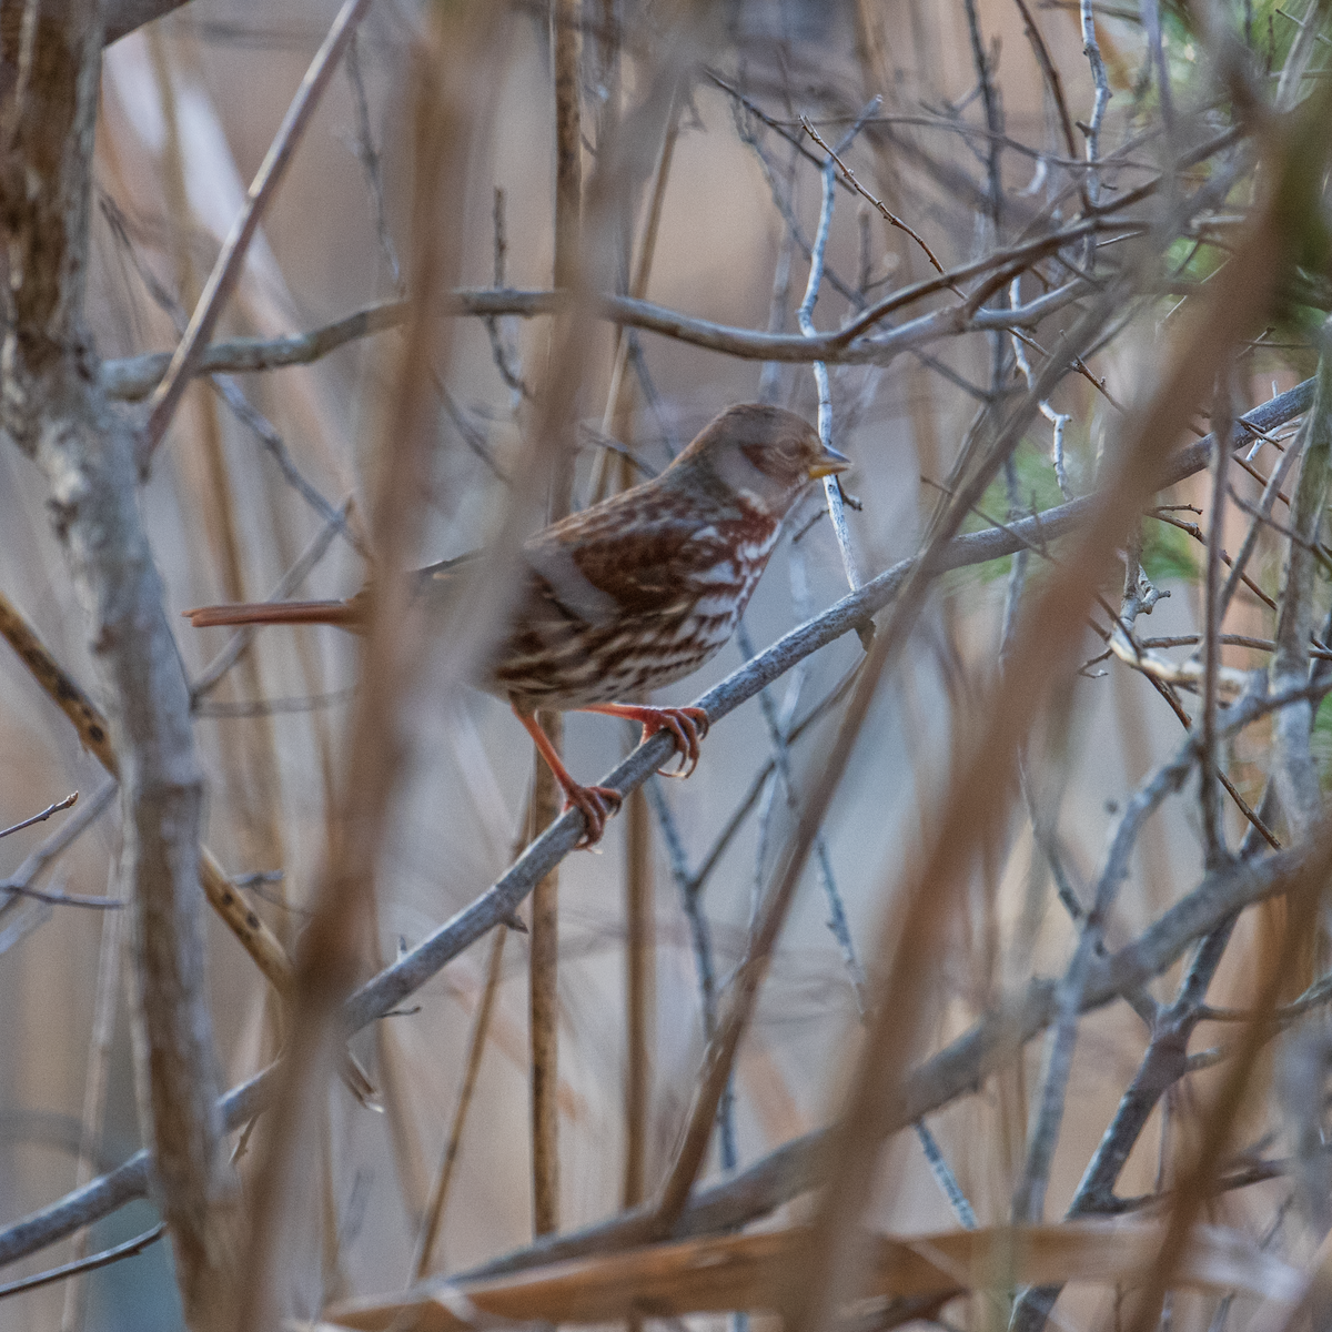
<path fill-rule="evenodd" d="M 643 12 L 634 0 L 583 5 L 585 181 L 599 165 L 599 149 L 651 85 L 651 33 L 659 20 L 654 8 Z M 1095 89 L 1079 7 L 1030 0 L 1030 8 L 1068 113 L 1086 125 Z M 1164 7 L 1159 19 L 1166 24 L 1175 120 L 1173 139 L 1163 137 L 1143 13 L 1134 5 L 1092 8 L 1112 95 L 1099 148 L 1102 157 L 1116 160 L 1103 184 L 1112 193 L 1151 178 L 1181 144 L 1224 128 L 1227 116 L 1217 109 L 1201 39 Z M 1155 13 L 1156 7 L 1150 8 Z M 326 0 L 192 0 L 107 48 L 89 273 L 89 318 L 105 360 L 174 345 L 336 9 Z M 555 135 L 550 13 L 537 3 L 494 11 L 469 84 L 466 189 L 449 214 L 461 224 L 450 222 L 460 229 L 440 244 L 456 285 L 547 290 Z M 1292 21 L 1272 4 L 1255 4 L 1245 13 L 1255 47 L 1269 68 L 1280 69 Z M 402 0 L 370 7 L 354 59 L 334 76 L 264 217 L 217 340 L 313 329 L 410 294 L 420 173 L 412 71 L 422 59 L 422 32 L 430 21 L 429 12 Z M 1309 21 L 1321 23 L 1323 11 L 1311 8 Z M 1086 173 L 1068 156 L 1051 84 L 1012 0 L 975 0 L 974 8 L 972 0 L 737 3 L 713 16 L 710 32 L 715 49 L 685 84 L 663 132 L 646 148 L 639 145 L 650 169 L 626 189 L 626 206 L 597 233 L 599 248 L 585 273 L 593 285 L 631 288 L 657 190 L 650 273 L 634 294 L 721 325 L 798 332 L 823 160 L 801 116 L 830 144 L 858 127 L 843 161 L 947 269 L 1015 245 L 1079 210 Z M 1321 48 L 1316 61 L 1325 61 Z M 872 97 L 880 101 L 871 104 Z M 1078 128 L 1074 133 L 1080 157 L 1086 135 Z M 666 139 L 669 155 L 662 153 Z M 1169 244 L 1176 246 L 1167 252 L 1171 262 L 1181 261 L 1177 272 L 1193 264 L 1189 276 L 1205 277 L 1205 265 L 1215 266 L 1220 253 L 1197 257 L 1195 248 L 1188 254 L 1191 237 L 1171 237 Z M 1110 252 L 1103 261 L 1112 260 Z M 814 324 L 835 329 L 867 302 L 931 272 L 915 240 L 839 188 Z M 1023 281 L 1019 300 L 1040 294 L 1039 282 L 1030 276 Z M 948 293 L 924 308 L 938 308 L 942 298 Z M 1067 416 L 1070 494 L 1091 489 L 1114 429 L 1114 404 L 1136 401 L 1158 373 L 1177 300 L 1155 290 L 1126 305 L 1110 330 L 1114 336 L 1108 332 L 1088 358 L 1091 377 L 1071 374 L 1052 396 L 1055 412 Z M 1056 309 L 1032 332 L 1032 345 L 1056 345 L 1074 316 L 1071 306 Z M 545 317 L 503 316 L 489 328 L 481 318 L 456 318 L 438 354 L 428 353 L 429 382 L 417 386 L 432 421 L 421 562 L 476 549 L 502 521 L 507 488 L 530 466 L 530 433 L 542 420 L 538 400 L 555 356 L 549 345 L 553 326 Z M 305 577 L 286 595 L 357 591 L 374 542 L 369 514 L 385 400 L 400 392 L 396 368 L 412 328 L 409 322 L 354 338 L 309 365 L 236 374 L 228 385 L 198 380 L 143 489 L 185 670 L 196 686 L 208 685 L 196 689 L 196 738 L 208 782 L 205 840 L 289 948 L 308 918 L 330 802 L 344 779 L 353 691 L 373 682 L 358 681 L 358 642 L 326 627 L 266 629 L 213 679 L 210 666 L 230 631 L 192 630 L 177 613 L 265 598 L 297 563 Z M 1252 349 L 1239 362 L 1241 409 L 1312 373 L 1315 356 L 1305 341 L 1280 330 L 1268 341 L 1271 348 Z M 1002 413 L 1026 392 L 1019 357 L 1031 357 L 1039 369 L 1042 357 L 1032 345 L 971 330 L 883 357 L 882 364 L 830 368 L 832 442 L 854 460 L 844 484 L 858 501 L 848 523 L 863 577 L 918 549 L 940 502 L 939 486 L 948 484 L 964 442 L 990 428 L 987 413 Z M 617 353 L 629 389 L 607 408 Z M 575 507 L 641 480 L 622 452 L 598 444 L 606 436 L 645 468 L 659 470 L 727 404 L 762 397 L 811 421 L 818 412 L 807 364 L 741 360 L 649 330 L 621 334 L 606 321 L 593 325 L 575 360 L 575 413 L 585 428 L 577 436 Z M 988 517 L 1007 519 L 1063 501 L 1050 440 L 1050 422 L 1038 417 L 1008 488 L 1000 478 L 980 506 Z M 1261 490 L 1243 474 L 1236 485 L 1255 500 Z M 1162 500 L 1201 506 L 1205 497 L 1207 477 L 1199 476 Z M 92 687 L 80 609 L 48 531 L 44 502 L 31 465 L 16 450 L 0 452 L 0 586 L 67 669 Z M 831 523 L 818 517 L 821 502 L 814 493 L 793 514 L 759 583 L 745 618 L 755 650 L 848 590 Z M 1184 521 L 1193 517 L 1181 514 Z M 1232 510 L 1228 521 L 1233 550 L 1247 519 Z M 970 522 L 971 529 L 983 525 L 979 517 Z M 1168 598 L 1155 606 L 1150 630 L 1197 633 L 1204 546 L 1180 527 L 1150 526 L 1144 569 Z M 1277 537 L 1263 534 L 1249 574 L 1269 594 L 1281 558 Z M 982 686 L 996 670 L 1012 586 L 1010 559 L 939 579 L 910 651 L 878 690 L 746 1035 L 709 1177 L 753 1163 L 834 1115 L 859 1050 L 864 986 L 872 987 L 880 974 L 880 922 L 894 908 L 903 867 L 920 855 L 958 735 L 975 723 Z M 1110 595 L 1118 597 L 1118 589 Z M 1227 627 L 1267 638 L 1271 621 L 1261 601 L 1244 591 Z M 1086 655 L 1102 650 L 1088 634 Z M 456 687 L 448 645 L 425 643 L 422 654 L 401 705 L 409 749 L 377 862 L 380 966 L 503 871 L 523 836 L 533 774 L 531 745 L 509 709 Z M 855 635 L 847 635 L 770 689 L 787 730 L 813 718 L 791 742 L 797 791 L 817 779 L 844 697 L 834 691 L 862 655 Z M 1227 659 L 1245 667 L 1265 662 L 1245 650 L 1228 651 Z M 658 702 L 687 703 L 742 661 L 733 642 Z M 1070 876 L 1086 886 L 1123 802 L 1173 751 L 1183 730 L 1150 682 L 1119 661 L 1090 667 L 1071 689 L 1062 730 L 1044 737 L 1030 779 L 1035 803 L 1058 831 Z M 582 781 L 597 779 L 637 742 L 633 730 L 605 717 L 567 717 L 570 769 Z M 0 825 L 72 790 L 80 793 L 76 809 L 85 809 L 108 781 L 8 649 L 0 653 L 0 735 L 7 755 L 0 766 Z M 743 954 L 757 894 L 794 827 L 771 755 L 767 723 L 751 699 L 714 729 L 689 781 L 654 781 L 647 793 L 650 1020 L 639 1039 L 651 1070 L 642 1124 L 649 1191 L 670 1160 L 703 1051 L 701 980 L 707 975 L 718 990 L 725 987 Z M 1231 775 L 1256 803 L 1263 742 L 1237 742 Z M 1237 839 L 1243 819 L 1233 809 L 1227 819 Z M 0 875 L 41 846 L 53 826 L 37 825 L 0 843 Z M 594 852 L 579 851 L 561 867 L 565 1229 L 622 1204 L 630 1043 L 627 826 L 627 815 L 613 821 Z M 115 895 L 117 835 L 109 802 L 43 882 L 68 892 Z M 1188 891 L 1201 872 L 1201 856 L 1196 802 L 1168 805 L 1139 842 L 1107 923 L 1107 944 L 1135 938 Z M 701 867 L 706 879 L 691 879 Z M 830 891 L 844 907 L 840 939 L 829 927 Z M 967 910 L 950 924 L 948 951 L 935 978 L 935 1044 L 966 1030 L 1028 975 L 1059 975 L 1075 939 L 1020 806 L 959 900 Z M 1249 959 L 1271 944 L 1275 928 L 1263 911 L 1277 910 L 1245 918 L 1212 1003 L 1245 1002 Z M 21 898 L 0 904 L 0 1006 L 7 1015 L 0 1032 L 0 1223 L 59 1197 L 145 1142 L 133 1094 L 124 944 L 115 911 Z M 531 1236 L 527 948 L 526 935 L 509 934 L 433 1271 L 465 1269 Z M 398 1016 L 356 1039 L 353 1048 L 378 1104 L 360 1103 L 341 1084 L 329 1090 L 317 1142 L 309 1144 L 317 1167 L 301 1181 L 306 1220 L 300 1260 L 281 1277 L 290 1312 L 313 1316 L 329 1300 L 392 1291 L 410 1280 L 486 987 L 489 950 L 489 940 L 473 947 Z M 366 974 L 373 960 L 366 959 Z M 221 1083 L 229 1087 L 273 1058 L 278 1024 L 265 982 L 212 916 L 208 976 Z M 1167 992 L 1168 980 L 1160 995 Z M 1124 1004 L 1084 1020 L 1048 1216 L 1067 1205 L 1144 1043 L 1143 1024 Z M 1039 1068 L 1039 1043 L 1032 1043 L 1024 1059 L 988 1079 L 976 1095 L 959 1098 L 928 1120 L 982 1223 L 1010 1215 Z M 1185 1104 L 1191 1086 L 1177 1088 Z M 234 1135 L 228 1139 L 229 1146 L 234 1142 Z M 81 1143 L 91 1154 L 81 1156 Z M 1160 1187 L 1169 1154 L 1168 1135 L 1154 1120 L 1119 1192 Z M 242 1181 L 248 1168 L 242 1159 Z M 906 1233 L 958 1224 L 916 1135 L 894 1138 L 880 1169 L 886 1183 L 872 1212 L 875 1224 Z M 1261 1235 L 1288 1192 L 1288 1184 L 1276 1180 L 1227 1195 L 1217 1209 Z M 84 1248 L 92 1252 L 128 1239 L 147 1229 L 155 1215 L 149 1203 L 133 1203 L 99 1221 Z M 783 1212 L 786 1219 L 805 1215 L 809 1208 L 799 1200 Z M 11 1271 L 37 1271 L 72 1252 L 67 1243 Z M 1090 1317 L 1091 1308 L 1104 1307 L 1068 1317 Z M 1195 1312 L 1204 1320 L 1212 1307 L 1200 1303 Z M 959 1325 L 988 1325 L 995 1312 L 984 1300 L 966 1300 L 950 1305 L 947 1317 Z M 0 1329 L 155 1332 L 180 1321 L 163 1244 L 77 1284 L 0 1304 Z"/>

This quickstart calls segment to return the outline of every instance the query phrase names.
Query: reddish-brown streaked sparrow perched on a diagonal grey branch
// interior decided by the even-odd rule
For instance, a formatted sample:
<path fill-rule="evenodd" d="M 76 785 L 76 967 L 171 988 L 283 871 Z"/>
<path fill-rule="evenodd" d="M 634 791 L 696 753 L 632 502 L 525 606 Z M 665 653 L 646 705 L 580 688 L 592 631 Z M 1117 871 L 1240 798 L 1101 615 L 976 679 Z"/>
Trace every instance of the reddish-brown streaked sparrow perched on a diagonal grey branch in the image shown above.
<path fill-rule="evenodd" d="M 746 402 L 714 417 L 662 473 L 551 523 L 522 545 L 522 586 L 477 683 L 505 698 L 597 843 L 621 805 L 613 787 L 583 786 L 561 762 L 538 709 L 602 713 L 666 730 L 687 777 L 707 734 L 699 707 L 617 702 L 691 675 L 735 631 L 783 519 L 806 488 L 850 460 L 803 417 Z M 476 554 L 416 573 L 445 601 Z M 213 625 L 338 625 L 364 630 L 369 587 L 348 601 L 249 602 L 185 611 Z"/>

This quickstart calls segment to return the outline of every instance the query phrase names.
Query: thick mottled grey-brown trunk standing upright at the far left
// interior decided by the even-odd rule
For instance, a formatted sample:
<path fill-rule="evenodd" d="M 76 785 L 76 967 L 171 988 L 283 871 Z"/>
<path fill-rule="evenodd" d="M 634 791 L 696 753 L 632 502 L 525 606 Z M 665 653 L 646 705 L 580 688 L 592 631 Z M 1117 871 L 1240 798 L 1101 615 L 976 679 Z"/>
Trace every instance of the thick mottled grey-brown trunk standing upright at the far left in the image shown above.
<path fill-rule="evenodd" d="M 27 9 L 24 25 L 37 5 Z M 84 324 L 101 63 L 97 0 L 31 24 L 0 121 L 0 241 L 9 277 L 0 426 L 43 472 L 109 719 L 120 777 L 117 872 L 132 902 L 136 1087 L 172 1235 L 185 1320 L 220 1325 L 217 1066 L 200 911 L 202 773 L 189 689 L 139 506 L 135 434 L 109 410 Z M 91 711 L 91 709 L 89 709 Z M 103 757 L 103 754 L 99 754 Z"/>

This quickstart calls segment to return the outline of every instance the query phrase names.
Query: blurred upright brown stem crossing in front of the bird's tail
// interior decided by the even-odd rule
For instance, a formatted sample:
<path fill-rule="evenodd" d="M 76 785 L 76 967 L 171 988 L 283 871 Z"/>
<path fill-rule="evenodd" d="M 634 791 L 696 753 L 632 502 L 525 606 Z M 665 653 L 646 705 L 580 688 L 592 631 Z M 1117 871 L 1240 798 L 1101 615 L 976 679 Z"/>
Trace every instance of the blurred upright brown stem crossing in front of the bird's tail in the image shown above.
<path fill-rule="evenodd" d="M 441 217 L 440 208 L 441 200 L 457 201 L 461 194 L 458 182 L 465 178 L 474 115 L 472 96 L 481 77 L 477 57 L 490 23 L 474 13 L 437 13 L 413 67 L 412 286 L 417 316 L 396 368 L 394 389 L 382 408 L 373 507 L 377 553 L 394 574 L 416 555 L 429 488 L 425 388 L 437 338 L 426 312 L 458 261 L 457 225 Z M 276 1273 L 282 1271 L 288 1241 L 284 1209 L 294 1184 L 298 1146 L 322 1102 L 341 1046 L 340 1004 L 373 951 L 374 870 L 406 750 L 400 710 L 413 678 L 412 663 L 420 657 L 410 631 L 409 597 L 406 582 L 389 577 L 370 609 L 362 670 L 373 686 L 356 695 L 346 773 L 330 811 L 325 863 L 297 954 L 288 1055 L 278 1066 L 268 1142 L 248 1208 L 248 1280 L 240 1292 L 238 1328 L 276 1313 Z"/>

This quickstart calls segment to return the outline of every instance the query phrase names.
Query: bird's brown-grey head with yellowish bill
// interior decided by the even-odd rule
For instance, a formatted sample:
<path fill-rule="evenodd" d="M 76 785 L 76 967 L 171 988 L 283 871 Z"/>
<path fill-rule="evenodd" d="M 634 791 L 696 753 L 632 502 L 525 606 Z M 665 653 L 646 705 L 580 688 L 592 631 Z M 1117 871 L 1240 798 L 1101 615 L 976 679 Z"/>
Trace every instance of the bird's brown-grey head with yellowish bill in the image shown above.
<path fill-rule="evenodd" d="M 781 518 L 819 477 L 851 466 L 818 430 L 782 408 L 745 402 L 709 422 L 673 468 L 693 472 Z"/>

